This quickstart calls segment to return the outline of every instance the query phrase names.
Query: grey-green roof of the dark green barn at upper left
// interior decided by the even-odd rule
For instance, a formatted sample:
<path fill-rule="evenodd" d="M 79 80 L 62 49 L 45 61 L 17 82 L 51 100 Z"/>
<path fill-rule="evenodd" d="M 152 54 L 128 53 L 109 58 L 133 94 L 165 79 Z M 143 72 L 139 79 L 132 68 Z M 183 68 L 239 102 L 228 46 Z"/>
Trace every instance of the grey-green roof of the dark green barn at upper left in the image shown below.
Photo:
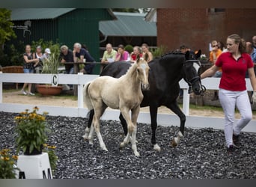
<path fill-rule="evenodd" d="M 11 8 L 10 19 L 13 21 L 32 19 L 55 19 L 75 8 Z"/>

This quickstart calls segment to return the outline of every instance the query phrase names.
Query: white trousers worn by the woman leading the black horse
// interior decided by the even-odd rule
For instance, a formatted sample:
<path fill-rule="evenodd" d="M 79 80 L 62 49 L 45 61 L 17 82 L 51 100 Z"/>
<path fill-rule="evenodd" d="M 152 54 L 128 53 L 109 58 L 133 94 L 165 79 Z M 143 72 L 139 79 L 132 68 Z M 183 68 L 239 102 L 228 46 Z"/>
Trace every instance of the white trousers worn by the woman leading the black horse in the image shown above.
<path fill-rule="evenodd" d="M 252 120 L 252 107 L 247 91 L 227 91 L 219 89 L 219 101 L 225 113 L 225 139 L 229 147 L 233 144 L 233 133 L 239 135 L 241 130 Z M 234 124 L 235 107 L 240 111 L 241 118 Z"/>

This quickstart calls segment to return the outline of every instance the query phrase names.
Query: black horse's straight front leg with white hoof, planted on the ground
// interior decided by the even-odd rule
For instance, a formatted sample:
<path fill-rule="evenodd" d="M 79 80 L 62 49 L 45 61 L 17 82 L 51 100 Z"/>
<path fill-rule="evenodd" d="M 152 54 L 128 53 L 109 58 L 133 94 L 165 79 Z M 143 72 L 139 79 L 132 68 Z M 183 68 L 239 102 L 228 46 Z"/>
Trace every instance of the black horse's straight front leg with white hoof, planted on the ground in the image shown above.
<path fill-rule="evenodd" d="M 152 130 L 152 137 L 151 137 L 151 143 L 153 144 L 153 149 L 156 151 L 161 151 L 161 148 L 158 144 L 156 144 L 156 128 L 157 128 L 157 103 L 153 102 L 150 103 L 150 119 L 151 119 L 151 130 Z"/>

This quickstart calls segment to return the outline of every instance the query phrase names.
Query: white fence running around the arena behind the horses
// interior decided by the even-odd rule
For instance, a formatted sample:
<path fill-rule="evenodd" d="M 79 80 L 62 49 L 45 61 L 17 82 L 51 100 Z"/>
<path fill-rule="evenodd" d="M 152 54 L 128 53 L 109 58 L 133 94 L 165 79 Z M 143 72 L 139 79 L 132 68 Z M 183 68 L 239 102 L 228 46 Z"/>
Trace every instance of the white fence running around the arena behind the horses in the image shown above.
<path fill-rule="evenodd" d="M 78 105 L 77 107 L 63 107 L 50 105 L 22 105 L 17 103 L 2 102 L 2 83 L 3 82 L 31 82 L 37 84 L 52 84 L 52 75 L 50 74 L 24 74 L 24 73 L 0 73 L 0 111 L 20 112 L 27 108 L 33 108 L 35 105 L 40 108 L 40 112 L 48 111 L 52 116 L 68 116 L 68 117 L 86 117 L 88 109 L 83 107 L 82 88 L 87 82 L 97 78 L 98 75 L 67 75 L 58 74 L 58 84 L 78 85 Z M 219 90 L 219 78 L 207 78 L 202 80 L 202 84 L 208 90 Z M 246 86 L 249 91 L 252 91 L 249 79 L 246 79 Z M 224 129 L 223 117 L 202 117 L 189 116 L 189 94 L 188 85 L 183 80 L 180 81 L 180 88 L 183 92 L 183 112 L 186 114 L 186 127 L 204 128 L 212 127 L 214 129 Z M 119 120 L 118 110 L 106 110 L 101 119 L 103 120 Z M 138 116 L 139 123 L 150 123 L 150 114 L 140 112 Z M 180 119 L 175 114 L 158 114 L 157 123 L 162 126 L 180 126 Z M 244 132 L 256 132 L 256 120 L 251 120 L 250 123 L 243 129 Z"/>

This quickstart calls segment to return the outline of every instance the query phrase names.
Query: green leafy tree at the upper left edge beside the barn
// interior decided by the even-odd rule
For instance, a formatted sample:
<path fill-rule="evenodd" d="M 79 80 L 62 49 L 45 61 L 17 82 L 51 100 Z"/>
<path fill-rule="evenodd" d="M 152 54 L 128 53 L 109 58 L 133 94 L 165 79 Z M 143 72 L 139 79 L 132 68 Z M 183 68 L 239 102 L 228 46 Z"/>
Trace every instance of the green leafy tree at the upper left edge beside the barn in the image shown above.
<path fill-rule="evenodd" d="M 10 10 L 6 8 L 0 8 L 0 46 L 4 45 L 6 40 L 10 40 L 12 37 L 16 37 L 13 31 L 13 22 L 10 21 Z M 0 52 L 2 47 L 0 49 Z"/>

